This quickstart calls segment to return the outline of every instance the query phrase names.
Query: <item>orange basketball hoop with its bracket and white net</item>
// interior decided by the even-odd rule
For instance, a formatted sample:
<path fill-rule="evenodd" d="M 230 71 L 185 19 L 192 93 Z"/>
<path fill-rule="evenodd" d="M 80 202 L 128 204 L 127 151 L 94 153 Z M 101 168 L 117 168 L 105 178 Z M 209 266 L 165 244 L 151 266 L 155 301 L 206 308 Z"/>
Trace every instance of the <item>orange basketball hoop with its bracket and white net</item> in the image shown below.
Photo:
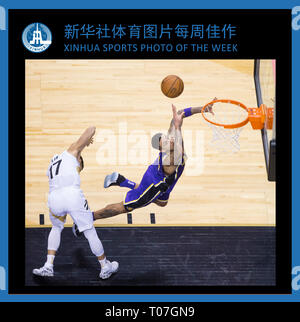
<path fill-rule="evenodd" d="M 209 105 L 213 105 L 213 113 L 209 113 Z M 273 126 L 273 108 L 263 104 L 248 108 L 238 101 L 219 99 L 203 106 L 201 113 L 213 131 L 212 145 L 225 152 L 240 150 L 240 133 L 248 122 L 254 130 L 272 129 Z"/>

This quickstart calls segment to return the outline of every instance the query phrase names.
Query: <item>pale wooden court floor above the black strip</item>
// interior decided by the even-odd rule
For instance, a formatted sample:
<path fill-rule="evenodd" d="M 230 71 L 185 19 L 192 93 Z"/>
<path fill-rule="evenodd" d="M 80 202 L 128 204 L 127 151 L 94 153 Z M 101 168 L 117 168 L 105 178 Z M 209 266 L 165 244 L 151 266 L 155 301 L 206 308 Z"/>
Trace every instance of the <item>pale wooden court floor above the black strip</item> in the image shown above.
<path fill-rule="evenodd" d="M 169 99 L 161 80 L 180 76 L 184 92 Z M 123 200 L 125 188 L 103 188 L 118 171 L 139 182 L 156 158 L 151 134 L 167 131 L 171 104 L 202 106 L 214 97 L 256 106 L 253 60 L 27 60 L 26 61 L 26 227 L 49 225 L 46 171 L 88 126 L 97 128 L 85 149 L 82 190 L 92 210 Z M 201 115 L 184 120 L 188 155 L 185 172 L 165 208 L 150 205 L 132 213 L 133 225 L 274 226 L 275 183 L 268 182 L 260 132 L 247 125 L 240 152 L 210 146 L 211 129 Z M 67 219 L 70 225 L 72 220 Z M 127 224 L 126 214 L 98 225 Z"/>

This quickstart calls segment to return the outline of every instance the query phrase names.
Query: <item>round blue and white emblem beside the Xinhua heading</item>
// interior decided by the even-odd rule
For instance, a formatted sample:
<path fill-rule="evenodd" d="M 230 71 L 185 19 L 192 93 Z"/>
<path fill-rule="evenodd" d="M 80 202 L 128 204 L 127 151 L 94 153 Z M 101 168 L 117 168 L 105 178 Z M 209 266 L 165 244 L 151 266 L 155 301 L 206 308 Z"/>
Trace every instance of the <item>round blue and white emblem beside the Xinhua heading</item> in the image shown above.
<path fill-rule="evenodd" d="M 33 53 L 41 53 L 52 43 L 50 29 L 42 23 L 32 23 L 22 34 L 23 45 Z"/>

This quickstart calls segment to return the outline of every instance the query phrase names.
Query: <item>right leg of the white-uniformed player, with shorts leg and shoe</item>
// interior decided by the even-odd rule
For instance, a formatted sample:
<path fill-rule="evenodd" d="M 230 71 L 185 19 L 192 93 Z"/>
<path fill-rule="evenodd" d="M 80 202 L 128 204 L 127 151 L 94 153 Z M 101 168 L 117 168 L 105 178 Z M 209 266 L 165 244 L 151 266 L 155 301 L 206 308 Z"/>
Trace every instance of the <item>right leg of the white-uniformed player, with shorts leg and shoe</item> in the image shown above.
<path fill-rule="evenodd" d="M 83 193 L 80 192 L 71 202 L 72 206 L 70 209 L 72 210 L 69 211 L 70 216 L 78 227 L 79 232 L 82 232 L 84 237 L 88 240 L 92 253 L 99 261 L 101 267 L 99 277 L 102 279 L 109 278 L 113 273 L 118 271 L 119 264 L 118 262 L 110 262 L 107 260 L 102 242 L 94 227 L 93 213 L 89 209 L 87 200 L 84 198 Z"/>

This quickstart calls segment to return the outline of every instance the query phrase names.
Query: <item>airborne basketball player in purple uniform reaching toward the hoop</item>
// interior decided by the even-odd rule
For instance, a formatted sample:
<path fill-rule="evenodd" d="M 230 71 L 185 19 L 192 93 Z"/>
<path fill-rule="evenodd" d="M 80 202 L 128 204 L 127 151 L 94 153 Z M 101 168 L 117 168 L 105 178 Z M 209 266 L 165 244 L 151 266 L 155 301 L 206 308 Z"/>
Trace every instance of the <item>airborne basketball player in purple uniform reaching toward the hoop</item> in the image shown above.
<path fill-rule="evenodd" d="M 170 193 L 185 167 L 186 155 L 181 134 L 183 119 L 201 113 L 201 110 L 202 107 L 189 107 L 177 112 L 176 107 L 172 105 L 173 119 L 167 134 L 157 133 L 152 137 L 152 147 L 159 150 L 158 158 L 148 167 L 139 184 L 126 179 L 117 172 L 106 176 L 105 188 L 120 186 L 130 190 L 126 193 L 124 201 L 95 211 L 94 220 L 127 213 L 150 203 L 155 203 L 160 207 L 168 204 Z M 206 112 L 213 114 L 212 105 L 207 107 Z M 75 236 L 79 235 L 75 224 L 73 232 Z"/>

